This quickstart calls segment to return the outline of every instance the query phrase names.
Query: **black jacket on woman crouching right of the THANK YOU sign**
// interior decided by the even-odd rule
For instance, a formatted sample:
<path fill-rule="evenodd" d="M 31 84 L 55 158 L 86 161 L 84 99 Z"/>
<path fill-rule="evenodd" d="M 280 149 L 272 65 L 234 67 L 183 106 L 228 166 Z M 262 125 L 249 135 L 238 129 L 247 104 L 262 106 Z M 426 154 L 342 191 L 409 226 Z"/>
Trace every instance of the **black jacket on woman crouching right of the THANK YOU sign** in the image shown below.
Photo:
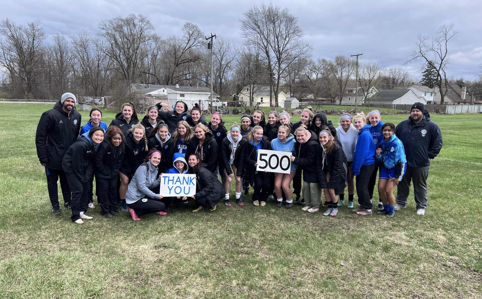
<path fill-rule="evenodd" d="M 190 169 L 192 173 L 192 169 Z M 221 197 L 224 195 L 224 188 L 219 179 L 209 170 L 204 168 L 204 165 L 196 174 L 198 191 L 194 195 L 196 200 L 206 199 L 206 202 L 211 206 L 218 204 Z"/>

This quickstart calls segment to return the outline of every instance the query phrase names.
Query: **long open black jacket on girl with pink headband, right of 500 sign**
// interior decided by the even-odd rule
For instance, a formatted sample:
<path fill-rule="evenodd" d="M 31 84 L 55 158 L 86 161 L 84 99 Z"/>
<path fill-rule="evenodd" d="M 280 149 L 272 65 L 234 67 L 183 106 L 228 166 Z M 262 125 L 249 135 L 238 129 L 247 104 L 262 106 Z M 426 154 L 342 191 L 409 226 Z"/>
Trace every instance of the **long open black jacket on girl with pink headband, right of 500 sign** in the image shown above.
<path fill-rule="evenodd" d="M 321 145 L 316 149 L 318 179 L 320 188 L 332 188 L 335 194 L 340 194 L 348 186 L 347 157 L 343 149 L 334 144 L 329 155 L 323 154 Z M 326 180 L 326 173 L 330 173 L 330 181 Z"/>

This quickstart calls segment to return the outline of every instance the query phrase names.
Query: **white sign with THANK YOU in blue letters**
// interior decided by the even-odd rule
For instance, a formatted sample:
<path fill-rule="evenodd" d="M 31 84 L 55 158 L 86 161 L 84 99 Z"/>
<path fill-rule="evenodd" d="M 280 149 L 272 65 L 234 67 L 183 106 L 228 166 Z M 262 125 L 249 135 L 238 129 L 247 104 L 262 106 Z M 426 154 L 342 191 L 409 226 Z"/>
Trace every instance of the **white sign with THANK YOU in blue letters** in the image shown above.
<path fill-rule="evenodd" d="M 169 197 L 193 196 L 196 194 L 196 175 L 162 174 L 159 194 Z"/>

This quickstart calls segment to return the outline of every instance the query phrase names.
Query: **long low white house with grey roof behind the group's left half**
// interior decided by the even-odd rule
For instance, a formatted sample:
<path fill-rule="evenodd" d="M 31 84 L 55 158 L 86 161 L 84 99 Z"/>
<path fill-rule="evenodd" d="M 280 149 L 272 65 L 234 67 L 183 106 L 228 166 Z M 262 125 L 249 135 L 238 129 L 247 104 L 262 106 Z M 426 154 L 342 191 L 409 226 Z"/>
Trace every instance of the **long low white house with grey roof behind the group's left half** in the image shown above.
<path fill-rule="evenodd" d="M 176 85 L 155 85 L 155 84 L 133 84 L 137 93 L 152 95 L 155 102 L 167 102 L 174 105 L 177 101 L 184 101 L 191 109 L 195 103 L 201 105 L 201 109 L 208 109 L 210 103 L 211 89 L 209 87 L 180 86 Z M 213 100 L 219 95 L 213 92 Z"/>

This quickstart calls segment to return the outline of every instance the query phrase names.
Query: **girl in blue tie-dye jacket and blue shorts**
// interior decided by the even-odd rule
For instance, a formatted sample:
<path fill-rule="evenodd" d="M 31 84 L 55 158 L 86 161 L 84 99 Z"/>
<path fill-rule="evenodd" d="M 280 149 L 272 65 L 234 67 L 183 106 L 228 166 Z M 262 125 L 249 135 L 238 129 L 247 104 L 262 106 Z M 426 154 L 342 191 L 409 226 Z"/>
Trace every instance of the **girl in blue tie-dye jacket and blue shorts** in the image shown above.
<path fill-rule="evenodd" d="M 380 143 L 380 147 L 376 149 L 375 155 L 375 160 L 383 163 L 378 178 L 378 194 L 383 203 L 383 210 L 376 214 L 386 215 L 389 218 L 395 216 L 393 190 L 402 180 L 407 167 L 402 141 L 393 132 L 395 132 L 393 123 L 387 122 L 382 126 L 384 139 Z"/>

